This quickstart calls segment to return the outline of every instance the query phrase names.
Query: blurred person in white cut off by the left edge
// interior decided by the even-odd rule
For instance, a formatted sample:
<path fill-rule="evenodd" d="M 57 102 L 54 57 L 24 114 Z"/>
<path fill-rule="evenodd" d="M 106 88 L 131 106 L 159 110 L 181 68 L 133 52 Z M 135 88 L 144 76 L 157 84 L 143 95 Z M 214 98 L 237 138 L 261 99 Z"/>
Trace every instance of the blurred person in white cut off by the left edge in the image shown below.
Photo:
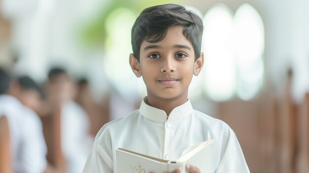
<path fill-rule="evenodd" d="M 14 173 L 43 173 L 46 169 L 46 144 L 39 117 L 21 104 L 20 88 L 0 68 L 0 116 L 6 115 L 10 132 L 11 163 Z"/>

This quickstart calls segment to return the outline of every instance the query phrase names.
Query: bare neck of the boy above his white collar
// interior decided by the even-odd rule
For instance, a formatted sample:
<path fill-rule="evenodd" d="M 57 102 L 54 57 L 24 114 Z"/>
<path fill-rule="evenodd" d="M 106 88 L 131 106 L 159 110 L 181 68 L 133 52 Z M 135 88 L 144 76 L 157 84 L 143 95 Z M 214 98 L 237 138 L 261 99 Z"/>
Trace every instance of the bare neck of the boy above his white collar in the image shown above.
<path fill-rule="evenodd" d="M 188 97 L 185 98 L 174 98 L 174 99 L 158 99 L 158 98 L 152 98 L 148 97 L 145 100 L 145 103 L 153 106 L 157 109 L 163 110 L 167 116 L 171 113 L 171 111 L 177 107 L 180 106 L 188 101 Z"/>

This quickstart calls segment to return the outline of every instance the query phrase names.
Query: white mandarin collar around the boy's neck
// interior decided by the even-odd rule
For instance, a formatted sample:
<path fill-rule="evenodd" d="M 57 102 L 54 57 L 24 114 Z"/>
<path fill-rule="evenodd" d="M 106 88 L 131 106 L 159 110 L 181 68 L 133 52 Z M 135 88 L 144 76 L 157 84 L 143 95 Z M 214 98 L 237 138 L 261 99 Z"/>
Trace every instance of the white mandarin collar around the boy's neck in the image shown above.
<path fill-rule="evenodd" d="M 155 108 L 153 106 L 146 104 L 145 101 L 147 99 L 148 99 L 147 97 L 143 99 L 139 111 L 144 117 L 150 120 L 153 120 L 153 121 L 162 122 L 162 123 L 165 123 L 167 121 L 174 121 L 174 120 L 182 119 L 185 116 L 193 112 L 191 102 L 190 100 L 188 100 L 186 103 L 175 107 L 171 111 L 170 115 L 167 116 L 164 110 L 161 110 L 161 109 L 158 109 L 158 108 Z"/>

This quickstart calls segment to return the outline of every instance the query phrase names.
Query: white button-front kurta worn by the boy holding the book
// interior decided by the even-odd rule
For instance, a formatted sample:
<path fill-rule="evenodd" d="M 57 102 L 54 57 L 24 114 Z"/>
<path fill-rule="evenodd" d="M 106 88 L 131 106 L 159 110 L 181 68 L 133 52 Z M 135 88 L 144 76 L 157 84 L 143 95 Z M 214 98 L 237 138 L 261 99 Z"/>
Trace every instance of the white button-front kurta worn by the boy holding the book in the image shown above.
<path fill-rule="evenodd" d="M 166 116 L 142 102 L 139 110 L 102 127 L 83 173 L 117 173 L 116 148 L 121 147 L 165 160 L 176 160 L 189 146 L 214 139 L 212 172 L 249 173 L 232 129 L 223 121 L 193 110 L 190 101 Z"/>

